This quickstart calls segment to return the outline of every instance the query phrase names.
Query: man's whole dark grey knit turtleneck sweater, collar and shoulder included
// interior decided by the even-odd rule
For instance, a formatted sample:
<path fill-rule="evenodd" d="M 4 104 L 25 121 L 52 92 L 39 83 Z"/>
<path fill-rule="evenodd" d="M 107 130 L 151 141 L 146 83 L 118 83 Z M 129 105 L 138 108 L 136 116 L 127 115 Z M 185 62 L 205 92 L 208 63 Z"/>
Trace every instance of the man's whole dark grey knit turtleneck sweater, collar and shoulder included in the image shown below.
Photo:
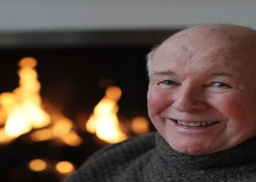
<path fill-rule="evenodd" d="M 151 133 L 105 147 L 64 181 L 256 181 L 256 138 L 226 151 L 191 156 Z"/>

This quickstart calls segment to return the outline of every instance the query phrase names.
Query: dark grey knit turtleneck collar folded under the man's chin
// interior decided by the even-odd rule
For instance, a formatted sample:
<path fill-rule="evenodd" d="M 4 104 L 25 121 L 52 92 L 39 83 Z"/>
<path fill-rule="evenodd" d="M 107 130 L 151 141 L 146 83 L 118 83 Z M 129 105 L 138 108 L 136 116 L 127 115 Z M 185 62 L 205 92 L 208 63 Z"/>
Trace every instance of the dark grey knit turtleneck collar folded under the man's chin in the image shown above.
<path fill-rule="evenodd" d="M 160 157 L 167 165 L 183 169 L 207 169 L 230 164 L 247 164 L 256 160 L 256 137 L 250 138 L 232 149 L 201 156 L 181 154 L 171 149 L 158 132 L 156 146 Z"/>

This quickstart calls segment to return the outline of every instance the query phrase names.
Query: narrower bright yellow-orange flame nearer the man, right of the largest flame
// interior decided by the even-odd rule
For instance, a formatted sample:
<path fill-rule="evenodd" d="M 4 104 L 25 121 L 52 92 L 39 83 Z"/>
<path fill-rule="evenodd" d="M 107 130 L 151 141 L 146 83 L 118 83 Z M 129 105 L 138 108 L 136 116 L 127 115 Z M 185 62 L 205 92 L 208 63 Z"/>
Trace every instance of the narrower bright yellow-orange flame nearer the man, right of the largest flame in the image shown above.
<path fill-rule="evenodd" d="M 106 95 L 94 108 L 94 113 L 86 123 L 86 130 L 96 133 L 97 137 L 108 143 L 116 143 L 127 139 L 127 135 L 120 130 L 118 123 L 117 101 L 121 98 L 121 89 L 108 87 Z"/>

